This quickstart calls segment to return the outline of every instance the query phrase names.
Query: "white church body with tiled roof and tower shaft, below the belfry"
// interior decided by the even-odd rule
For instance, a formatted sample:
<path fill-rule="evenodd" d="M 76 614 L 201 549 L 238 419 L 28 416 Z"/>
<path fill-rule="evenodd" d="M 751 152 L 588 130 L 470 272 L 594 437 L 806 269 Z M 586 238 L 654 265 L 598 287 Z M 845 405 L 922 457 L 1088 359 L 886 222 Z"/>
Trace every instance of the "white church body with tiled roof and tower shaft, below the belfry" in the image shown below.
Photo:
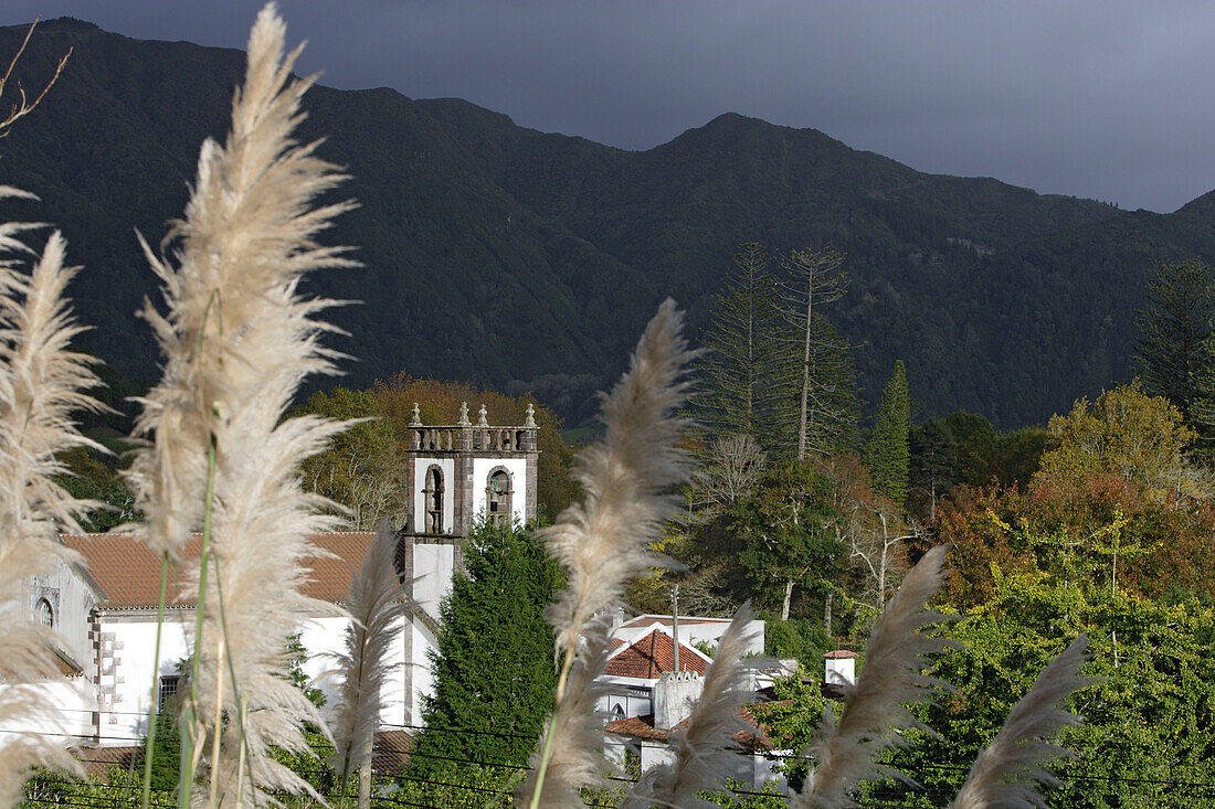
<path fill-rule="evenodd" d="M 320 534 L 320 549 L 335 554 L 313 560 L 313 579 L 305 585 L 321 600 L 340 602 L 350 576 L 371 544 L 369 533 Z M 181 683 L 181 664 L 191 654 L 196 611 L 192 605 L 165 610 L 160 652 L 156 655 L 157 611 L 154 604 L 159 565 L 154 554 L 130 537 L 91 534 L 67 537 L 98 571 L 95 578 L 83 570 L 63 565 L 51 576 L 29 579 L 27 600 L 35 615 L 49 615 L 62 637 L 55 650 L 67 683 L 33 686 L 0 685 L 0 695 L 15 688 L 33 688 L 52 695 L 52 709 L 35 730 L 55 735 L 66 745 L 135 746 L 147 734 L 152 700 L 171 698 Z M 394 666 L 382 694 L 380 714 L 385 729 L 402 729 L 419 720 L 433 673 L 430 652 L 437 647 L 440 605 L 451 590 L 459 559 L 458 547 L 446 541 L 409 543 L 408 588 L 414 605 L 397 621 L 400 634 L 385 661 Z M 307 564 L 307 562 L 306 562 Z M 152 570 L 148 573 L 148 570 Z M 136 571 L 142 571 L 140 576 Z M 139 582 L 132 584 L 132 582 Z M 118 594 L 111 598 L 109 593 Z M 303 673 L 337 705 L 339 675 L 335 655 L 345 647 L 349 618 L 300 616 L 300 643 L 305 651 Z M 0 747 L 12 734 L 0 732 Z"/>

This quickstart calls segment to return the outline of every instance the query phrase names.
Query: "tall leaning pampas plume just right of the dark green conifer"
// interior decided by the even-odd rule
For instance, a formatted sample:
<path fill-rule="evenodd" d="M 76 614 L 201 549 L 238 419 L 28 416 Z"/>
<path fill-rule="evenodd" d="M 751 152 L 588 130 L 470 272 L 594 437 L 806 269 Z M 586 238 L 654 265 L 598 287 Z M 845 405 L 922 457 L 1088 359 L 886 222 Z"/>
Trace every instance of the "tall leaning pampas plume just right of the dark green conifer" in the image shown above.
<path fill-rule="evenodd" d="M 632 578 L 669 564 L 649 543 L 674 514 L 671 492 L 690 475 L 677 446 L 685 422 L 676 411 L 684 400 L 684 367 L 694 356 L 682 332 L 683 315 L 667 300 L 638 343 L 629 370 L 604 397 L 604 440 L 575 462 L 583 502 L 544 531 L 567 585 L 549 610 L 561 662 L 556 705 L 535 769 L 516 790 L 516 798 L 533 808 L 572 805 L 581 786 L 600 780 L 595 678 L 606 664 L 610 627 L 595 616 L 621 601 Z"/>

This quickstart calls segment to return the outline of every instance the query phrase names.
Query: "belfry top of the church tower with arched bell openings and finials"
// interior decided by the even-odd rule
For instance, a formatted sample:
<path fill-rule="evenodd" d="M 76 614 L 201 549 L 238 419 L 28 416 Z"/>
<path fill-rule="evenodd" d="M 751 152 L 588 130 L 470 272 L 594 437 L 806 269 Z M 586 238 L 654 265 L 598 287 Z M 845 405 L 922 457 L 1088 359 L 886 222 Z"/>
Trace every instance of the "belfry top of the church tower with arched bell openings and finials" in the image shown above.
<path fill-rule="evenodd" d="M 539 458 L 535 409 L 521 426 L 490 426 L 485 406 L 476 424 L 460 405 L 456 424 L 428 426 L 418 405 L 409 422 L 409 514 L 402 533 L 465 537 L 484 516 L 510 525 L 536 519 Z"/>

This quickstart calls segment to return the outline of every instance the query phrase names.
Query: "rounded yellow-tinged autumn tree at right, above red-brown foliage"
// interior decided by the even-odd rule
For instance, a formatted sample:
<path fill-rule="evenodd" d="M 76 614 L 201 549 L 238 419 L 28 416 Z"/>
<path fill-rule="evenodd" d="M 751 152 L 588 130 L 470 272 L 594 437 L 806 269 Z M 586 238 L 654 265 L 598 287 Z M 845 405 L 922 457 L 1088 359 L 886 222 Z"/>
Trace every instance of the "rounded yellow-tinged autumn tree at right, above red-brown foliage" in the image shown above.
<path fill-rule="evenodd" d="M 1186 457 L 1197 437 L 1181 411 L 1140 385 L 1121 385 L 1097 401 L 1075 402 L 1072 412 L 1051 418 L 1053 448 L 1042 456 L 1033 485 L 1075 483 L 1090 475 L 1114 474 L 1143 494 L 1163 502 L 1204 494 L 1202 475 Z"/>

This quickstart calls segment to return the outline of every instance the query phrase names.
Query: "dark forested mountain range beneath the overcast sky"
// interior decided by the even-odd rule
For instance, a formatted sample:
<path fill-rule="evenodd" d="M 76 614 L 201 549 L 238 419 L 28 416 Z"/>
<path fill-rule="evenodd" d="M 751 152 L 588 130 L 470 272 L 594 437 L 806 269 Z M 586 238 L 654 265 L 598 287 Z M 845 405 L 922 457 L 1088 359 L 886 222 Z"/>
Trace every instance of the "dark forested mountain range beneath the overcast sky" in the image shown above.
<path fill-rule="evenodd" d="M 22 29 L 0 30 L 0 52 Z M 87 340 L 153 375 L 152 293 L 134 237 L 179 216 L 203 137 L 221 136 L 238 51 L 131 40 L 78 21 L 39 26 L 22 60 L 35 114 L 0 141 L 0 181 L 44 204 L 4 214 L 56 222 L 84 264 L 74 296 Z M 722 115 L 646 152 L 515 126 L 457 100 L 316 87 L 306 137 L 346 166 L 360 208 L 335 242 L 362 270 L 318 292 L 334 312 L 351 384 L 405 369 L 556 411 L 622 367 L 666 295 L 706 322 L 735 247 L 847 251 L 852 292 L 831 312 L 857 344 L 874 398 L 906 362 L 920 415 L 966 408 L 1002 426 L 1040 422 L 1128 375 L 1134 310 L 1152 264 L 1215 259 L 1215 202 L 1125 213 L 989 179 L 927 175 L 815 130 Z"/>

